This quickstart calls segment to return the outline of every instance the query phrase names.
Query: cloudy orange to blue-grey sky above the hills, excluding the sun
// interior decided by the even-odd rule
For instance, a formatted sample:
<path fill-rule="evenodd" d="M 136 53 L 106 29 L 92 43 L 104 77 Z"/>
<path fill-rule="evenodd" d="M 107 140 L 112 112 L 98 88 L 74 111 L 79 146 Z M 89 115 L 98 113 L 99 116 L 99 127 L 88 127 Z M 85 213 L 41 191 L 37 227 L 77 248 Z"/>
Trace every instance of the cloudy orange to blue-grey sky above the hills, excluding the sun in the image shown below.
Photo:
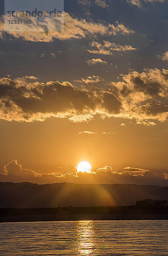
<path fill-rule="evenodd" d="M 14 30 L 0 4 L 0 181 L 168 186 L 167 9 L 65 0 Z"/>

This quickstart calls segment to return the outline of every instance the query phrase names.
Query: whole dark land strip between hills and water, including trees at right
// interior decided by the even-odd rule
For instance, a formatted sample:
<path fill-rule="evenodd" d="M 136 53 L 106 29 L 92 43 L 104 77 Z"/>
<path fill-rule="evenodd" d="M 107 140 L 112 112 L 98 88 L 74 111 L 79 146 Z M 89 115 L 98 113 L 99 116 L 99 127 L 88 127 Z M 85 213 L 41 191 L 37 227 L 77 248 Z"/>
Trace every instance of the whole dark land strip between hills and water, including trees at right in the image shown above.
<path fill-rule="evenodd" d="M 138 208 L 136 206 L 118 206 L 0 209 L 0 222 L 82 220 L 168 220 L 168 207 Z"/>

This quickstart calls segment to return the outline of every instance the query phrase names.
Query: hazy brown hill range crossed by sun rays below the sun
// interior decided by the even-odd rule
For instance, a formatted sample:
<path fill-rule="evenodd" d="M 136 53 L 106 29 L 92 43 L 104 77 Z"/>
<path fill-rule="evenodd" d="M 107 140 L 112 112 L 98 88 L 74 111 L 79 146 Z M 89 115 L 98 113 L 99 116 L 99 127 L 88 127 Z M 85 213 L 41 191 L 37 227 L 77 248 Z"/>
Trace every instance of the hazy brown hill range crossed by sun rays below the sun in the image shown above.
<path fill-rule="evenodd" d="M 168 200 L 168 187 L 132 184 L 0 183 L 0 208 L 135 205 L 137 200 Z"/>

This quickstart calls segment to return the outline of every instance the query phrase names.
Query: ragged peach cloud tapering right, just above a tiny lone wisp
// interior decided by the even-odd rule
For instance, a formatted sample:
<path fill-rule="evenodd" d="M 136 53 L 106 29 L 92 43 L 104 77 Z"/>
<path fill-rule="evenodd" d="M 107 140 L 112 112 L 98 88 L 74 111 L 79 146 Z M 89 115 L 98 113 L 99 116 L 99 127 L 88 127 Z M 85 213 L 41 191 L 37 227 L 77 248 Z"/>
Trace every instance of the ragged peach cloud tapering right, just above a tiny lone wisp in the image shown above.
<path fill-rule="evenodd" d="M 104 55 L 111 55 L 114 51 L 130 51 L 130 50 L 136 50 L 136 48 L 133 48 L 131 45 L 120 45 L 111 43 L 109 41 L 103 41 L 103 43 L 98 43 L 93 41 L 90 46 L 93 48 L 92 50 L 87 49 L 90 53 L 95 54 L 104 54 Z"/>

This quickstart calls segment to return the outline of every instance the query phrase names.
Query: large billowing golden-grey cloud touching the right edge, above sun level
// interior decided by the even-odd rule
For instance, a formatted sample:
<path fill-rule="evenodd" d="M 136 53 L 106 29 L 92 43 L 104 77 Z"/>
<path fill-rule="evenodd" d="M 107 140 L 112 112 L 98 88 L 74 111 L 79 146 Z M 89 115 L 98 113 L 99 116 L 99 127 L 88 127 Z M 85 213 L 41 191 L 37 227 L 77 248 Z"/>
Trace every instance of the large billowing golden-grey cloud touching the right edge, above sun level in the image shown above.
<path fill-rule="evenodd" d="M 112 83 L 112 91 L 120 95 L 125 117 L 137 121 L 165 121 L 168 116 L 167 82 L 168 70 L 165 69 L 133 71 L 123 75 L 123 82 Z"/>

